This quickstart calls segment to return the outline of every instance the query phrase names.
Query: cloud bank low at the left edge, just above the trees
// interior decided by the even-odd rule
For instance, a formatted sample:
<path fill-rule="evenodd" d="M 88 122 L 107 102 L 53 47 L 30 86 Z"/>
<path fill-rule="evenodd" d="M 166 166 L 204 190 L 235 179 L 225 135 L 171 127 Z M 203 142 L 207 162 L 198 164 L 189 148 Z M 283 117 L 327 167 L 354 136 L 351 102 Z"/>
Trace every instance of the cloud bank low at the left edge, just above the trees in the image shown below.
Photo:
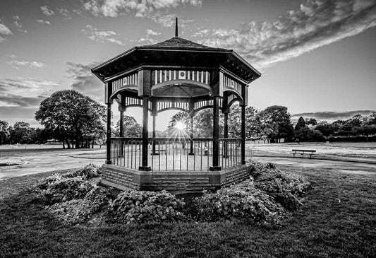
<path fill-rule="evenodd" d="M 0 107 L 37 107 L 61 83 L 35 78 L 0 79 Z"/>

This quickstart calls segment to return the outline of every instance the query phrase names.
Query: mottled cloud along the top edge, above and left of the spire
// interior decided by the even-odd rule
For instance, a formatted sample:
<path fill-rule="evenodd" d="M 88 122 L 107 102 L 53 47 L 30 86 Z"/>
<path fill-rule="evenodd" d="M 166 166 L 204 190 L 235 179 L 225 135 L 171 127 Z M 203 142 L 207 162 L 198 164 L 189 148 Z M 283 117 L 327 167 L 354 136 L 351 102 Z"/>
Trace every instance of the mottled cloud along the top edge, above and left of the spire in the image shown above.
<path fill-rule="evenodd" d="M 154 10 L 176 8 L 181 4 L 201 6 L 202 0 L 85 0 L 83 8 L 95 16 L 116 17 L 133 11 L 136 17 L 146 17 Z"/>

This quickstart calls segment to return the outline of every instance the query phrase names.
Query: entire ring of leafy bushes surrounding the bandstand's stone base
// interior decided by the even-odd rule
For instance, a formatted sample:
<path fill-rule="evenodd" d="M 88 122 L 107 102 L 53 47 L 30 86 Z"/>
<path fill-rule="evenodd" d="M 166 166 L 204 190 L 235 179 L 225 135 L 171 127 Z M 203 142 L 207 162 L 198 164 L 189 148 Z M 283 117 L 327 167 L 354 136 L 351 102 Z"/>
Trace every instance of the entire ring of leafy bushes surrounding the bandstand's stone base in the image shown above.
<path fill-rule="evenodd" d="M 300 197 L 310 183 L 303 177 L 282 172 L 274 164 L 250 164 L 250 179 L 204 192 L 190 204 L 169 192 L 121 192 L 117 197 L 105 187 L 88 181 L 99 175 L 87 165 L 63 175 L 51 175 L 35 187 L 46 209 L 64 223 L 80 224 L 102 214 L 106 223 L 171 221 L 243 221 L 278 223 L 301 206 Z"/>

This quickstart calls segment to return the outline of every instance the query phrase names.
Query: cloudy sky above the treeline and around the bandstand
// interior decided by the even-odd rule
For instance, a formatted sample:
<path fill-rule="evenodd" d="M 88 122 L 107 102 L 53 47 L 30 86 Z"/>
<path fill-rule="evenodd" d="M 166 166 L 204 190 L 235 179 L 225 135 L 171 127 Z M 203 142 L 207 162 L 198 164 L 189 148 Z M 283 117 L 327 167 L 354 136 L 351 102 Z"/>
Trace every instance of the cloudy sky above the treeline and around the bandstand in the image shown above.
<path fill-rule="evenodd" d="M 90 69 L 173 37 L 175 17 L 179 37 L 234 49 L 262 73 L 249 86 L 258 110 L 319 120 L 376 110 L 376 0 L 0 0 L 0 120 L 40 127 L 35 111 L 56 90 L 104 104 Z"/>

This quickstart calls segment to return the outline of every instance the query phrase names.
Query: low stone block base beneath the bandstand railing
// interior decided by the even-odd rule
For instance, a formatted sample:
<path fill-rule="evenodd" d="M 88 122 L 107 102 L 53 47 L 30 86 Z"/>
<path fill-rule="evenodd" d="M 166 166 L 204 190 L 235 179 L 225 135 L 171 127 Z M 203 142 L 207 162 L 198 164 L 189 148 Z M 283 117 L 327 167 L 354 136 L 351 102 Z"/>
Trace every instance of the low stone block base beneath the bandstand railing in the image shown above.
<path fill-rule="evenodd" d="M 218 171 L 141 171 L 104 164 L 101 184 L 121 190 L 184 194 L 236 184 L 249 178 L 249 170 L 247 165 L 238 165 Z"/>

